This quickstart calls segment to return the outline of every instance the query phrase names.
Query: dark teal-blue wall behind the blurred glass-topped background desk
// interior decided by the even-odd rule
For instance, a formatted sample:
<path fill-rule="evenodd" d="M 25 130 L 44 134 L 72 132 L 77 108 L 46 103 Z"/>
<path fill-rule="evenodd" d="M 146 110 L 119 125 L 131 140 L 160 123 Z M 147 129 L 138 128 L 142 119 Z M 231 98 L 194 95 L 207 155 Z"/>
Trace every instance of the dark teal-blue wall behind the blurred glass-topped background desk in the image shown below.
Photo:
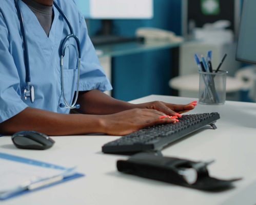
<path fill-rule="evenodd" d="M 139 27 L 156 27 L 181 33 L 181 1 L 155 0 L 152 20 L 114 20 L 114 32 L 133 36 Z M 150 94 L 170 95 L 170 49 L 113 59 L 113 95 L 131 100 Z"/>

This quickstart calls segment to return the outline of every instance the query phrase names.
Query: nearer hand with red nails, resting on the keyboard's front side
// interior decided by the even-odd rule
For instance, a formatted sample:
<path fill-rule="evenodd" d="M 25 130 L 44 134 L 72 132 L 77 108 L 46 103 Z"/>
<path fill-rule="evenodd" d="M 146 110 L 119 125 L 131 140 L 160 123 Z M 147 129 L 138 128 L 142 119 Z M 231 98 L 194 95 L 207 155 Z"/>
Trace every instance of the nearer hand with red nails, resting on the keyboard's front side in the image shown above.
<path fill-rule="evenodd" d="M 176 123 L 176 116 L 168 116 L 153 109 L 131 109 L 111 115 L 102 115 L 103 133 L 127 135 L 142 128 L 167 123 Z"/>

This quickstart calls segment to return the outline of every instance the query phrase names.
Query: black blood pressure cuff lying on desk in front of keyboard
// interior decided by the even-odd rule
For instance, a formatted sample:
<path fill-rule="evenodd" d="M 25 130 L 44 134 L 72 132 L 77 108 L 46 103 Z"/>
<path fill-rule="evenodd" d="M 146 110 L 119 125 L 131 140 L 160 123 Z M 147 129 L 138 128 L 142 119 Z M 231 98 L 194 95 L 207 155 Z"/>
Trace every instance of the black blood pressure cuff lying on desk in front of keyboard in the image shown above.
<path fill-rule="evenodd" d="M 201 163 L 201 166 L 197 166 Z M 188 183 L 180 170 L 195 169 L 197 177 L 195 182 Z M 117 170 L 126 174 L 132 174 L 144 178 L 164 181 L 205 191 L 223 191 L 233 188 L 234 181 L 241 178 L 222 180 L 209 176 L 206 165 L 202 162 L 187 159 L 157 156 L 153 153 L 139 153 L 128 160 L 118 160 Z"/>

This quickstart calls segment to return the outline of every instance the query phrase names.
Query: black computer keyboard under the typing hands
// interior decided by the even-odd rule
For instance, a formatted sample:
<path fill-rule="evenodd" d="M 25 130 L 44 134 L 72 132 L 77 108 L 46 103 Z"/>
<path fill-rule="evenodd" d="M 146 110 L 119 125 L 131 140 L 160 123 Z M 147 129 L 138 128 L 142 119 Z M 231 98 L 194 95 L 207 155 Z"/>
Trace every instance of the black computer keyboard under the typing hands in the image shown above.
<path fill-rule="evenodd" d="M 159 151 L 170 143 L 203 128 L 206 125 L 216 129 L 214 122 L 220 119 L 219 113 L 203 113 L 183 115 L 175 124 L 156 125 L 141 129 L 102 147 L 104 153 L 137 153 Z"/>

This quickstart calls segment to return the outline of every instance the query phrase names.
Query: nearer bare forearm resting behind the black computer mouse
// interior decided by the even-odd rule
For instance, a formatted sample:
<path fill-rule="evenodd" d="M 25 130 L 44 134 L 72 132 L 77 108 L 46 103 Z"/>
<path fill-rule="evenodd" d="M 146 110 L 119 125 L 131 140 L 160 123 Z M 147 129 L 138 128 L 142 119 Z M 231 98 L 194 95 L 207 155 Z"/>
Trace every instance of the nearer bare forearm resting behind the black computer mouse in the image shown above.
<path fill-rule="evenodd" d="M 24 130 L 33 130 L 51 136 L 104 131 L 101 117 L 97 115 L 58 114 L 34 108 L 26 108 L 0 124 L 2 134 L 13 134 Z"/>

